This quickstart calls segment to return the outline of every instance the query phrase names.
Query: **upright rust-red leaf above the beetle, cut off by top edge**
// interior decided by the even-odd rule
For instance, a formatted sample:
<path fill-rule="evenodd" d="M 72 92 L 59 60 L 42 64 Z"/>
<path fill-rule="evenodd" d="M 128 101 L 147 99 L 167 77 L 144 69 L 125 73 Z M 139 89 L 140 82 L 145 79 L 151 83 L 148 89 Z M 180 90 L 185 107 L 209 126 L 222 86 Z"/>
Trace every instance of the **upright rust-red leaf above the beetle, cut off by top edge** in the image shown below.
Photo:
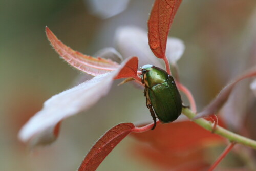
<path fill-rule="evenodd" d="M 148 42 L 158 58 L 164 58 L 170 25 L 182 0 L 156 0 L 148 20 Z"/>

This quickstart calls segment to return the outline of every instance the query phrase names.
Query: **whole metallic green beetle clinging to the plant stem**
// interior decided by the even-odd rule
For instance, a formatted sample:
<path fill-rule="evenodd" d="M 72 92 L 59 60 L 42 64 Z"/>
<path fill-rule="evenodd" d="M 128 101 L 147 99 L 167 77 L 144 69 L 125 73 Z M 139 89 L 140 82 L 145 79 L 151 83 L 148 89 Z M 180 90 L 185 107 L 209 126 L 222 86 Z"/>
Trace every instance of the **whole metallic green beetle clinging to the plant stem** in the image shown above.
<path fill-rule="evenodd" d="M 141 71 L 146 106 L 150 109 L 155 123 L 152 130 L 156 127 L 156 116 L 162 123 L 175 121 L 180 116 L 183 105 L 174 78 L 163 69 L 152 65 L 144 65 Z"/>

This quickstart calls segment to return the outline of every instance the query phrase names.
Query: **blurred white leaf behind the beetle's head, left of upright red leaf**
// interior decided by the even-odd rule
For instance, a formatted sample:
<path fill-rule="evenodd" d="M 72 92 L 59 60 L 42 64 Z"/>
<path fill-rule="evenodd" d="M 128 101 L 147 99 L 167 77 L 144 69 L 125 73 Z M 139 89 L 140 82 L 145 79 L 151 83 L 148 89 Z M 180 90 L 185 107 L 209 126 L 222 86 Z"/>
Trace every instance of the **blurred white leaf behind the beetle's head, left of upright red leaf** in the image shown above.
<path fill-rule="evenodd" d="M 115 42 L 117 50 L 123 58 L 137 56 L 139 58 L 139 66 L 152 64 L 163 68 L 148 46 L 147 32 L 145 30 L 132 26 L 119 27 L 115 34 Z"/>

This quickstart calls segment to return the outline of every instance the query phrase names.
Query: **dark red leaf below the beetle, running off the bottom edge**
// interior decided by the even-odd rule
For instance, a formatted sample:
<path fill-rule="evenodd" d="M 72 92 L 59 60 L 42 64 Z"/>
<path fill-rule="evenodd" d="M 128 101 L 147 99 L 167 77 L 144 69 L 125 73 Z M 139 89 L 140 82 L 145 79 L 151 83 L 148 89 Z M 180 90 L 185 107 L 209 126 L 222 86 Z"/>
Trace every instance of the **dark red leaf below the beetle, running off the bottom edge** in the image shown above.
<path fill-rule="evenodd" d="M 106 132 L 83 159 L 78 171 L 96 170 L 112 149 L 134 129 L 133 123 L 121 123 Z"/>

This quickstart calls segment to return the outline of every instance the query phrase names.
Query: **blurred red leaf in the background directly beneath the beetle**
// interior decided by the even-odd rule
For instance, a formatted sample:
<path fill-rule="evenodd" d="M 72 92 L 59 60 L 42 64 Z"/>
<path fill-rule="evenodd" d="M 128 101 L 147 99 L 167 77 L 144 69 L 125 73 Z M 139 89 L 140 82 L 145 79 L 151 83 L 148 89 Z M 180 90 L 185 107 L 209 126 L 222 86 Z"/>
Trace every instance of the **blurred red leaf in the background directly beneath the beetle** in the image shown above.
<path fill-rule="evenodd" d="M 149 142 L 161 151 L 180 151 L 202 145 L 205 142 L 222 141 L 224 138 L 212 134 L 191 121 L 159 124 L 154 131 L 132 134 L 141 141 Z"/>

